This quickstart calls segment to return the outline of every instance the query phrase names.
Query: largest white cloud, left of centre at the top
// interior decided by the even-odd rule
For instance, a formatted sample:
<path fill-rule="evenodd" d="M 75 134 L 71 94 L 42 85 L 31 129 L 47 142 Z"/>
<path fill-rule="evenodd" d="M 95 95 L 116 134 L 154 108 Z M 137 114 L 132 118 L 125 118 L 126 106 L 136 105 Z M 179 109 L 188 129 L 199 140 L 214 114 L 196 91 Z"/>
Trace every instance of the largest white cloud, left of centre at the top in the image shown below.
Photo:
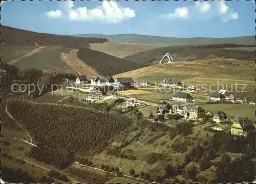
<path fill-rule="evenodd" d="M 73 7 L 73 1 L 66 1 L 63 2 L 60 8 L 63 15 L 67 15 L 70 20 L 103 20 L 115 23 L 135 17 L 134 10 L 118 6 L 113 1 L 103 1 L 100 7 L 94 9 L 88 9 L 87 7 L 73 9 Z"/>

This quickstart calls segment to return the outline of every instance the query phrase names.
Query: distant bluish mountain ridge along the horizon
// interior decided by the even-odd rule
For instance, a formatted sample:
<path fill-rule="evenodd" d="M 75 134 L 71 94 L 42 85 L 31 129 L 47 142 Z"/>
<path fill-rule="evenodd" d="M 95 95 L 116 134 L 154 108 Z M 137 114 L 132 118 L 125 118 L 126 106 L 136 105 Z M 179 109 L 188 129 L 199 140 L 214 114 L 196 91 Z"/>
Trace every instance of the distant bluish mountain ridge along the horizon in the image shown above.
<path fill-rule="evenodd" d="M 81 34 L 71 35 L 76 37 L 94 37 L 106 38 L 109 42 L 119 43 L 141 43 L 141 44 L 163 44 L 163 45 L 206 45 L 206 44 L 244 44 L 254 45 L 255 36 L 242 36 L 230 38 L 175 38 L 163 36 L 148 36 L 139 34 L 120 34 L 120 35 L 103 35 L 103 34 Z"/>

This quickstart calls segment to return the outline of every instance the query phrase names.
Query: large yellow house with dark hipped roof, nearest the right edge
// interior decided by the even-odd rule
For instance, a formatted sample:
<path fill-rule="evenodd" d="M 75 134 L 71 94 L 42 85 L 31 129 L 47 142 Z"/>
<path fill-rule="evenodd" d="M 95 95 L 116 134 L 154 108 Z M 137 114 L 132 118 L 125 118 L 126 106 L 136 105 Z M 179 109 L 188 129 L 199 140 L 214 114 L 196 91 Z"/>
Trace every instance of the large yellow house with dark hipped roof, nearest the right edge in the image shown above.
<path fill-rule="evenodd" d="M 246 117 L 237 115 L 231 125 L 231 134 L 236 136 L 246 136 L 247 133 L 254 131 L 253 123 Z"/>

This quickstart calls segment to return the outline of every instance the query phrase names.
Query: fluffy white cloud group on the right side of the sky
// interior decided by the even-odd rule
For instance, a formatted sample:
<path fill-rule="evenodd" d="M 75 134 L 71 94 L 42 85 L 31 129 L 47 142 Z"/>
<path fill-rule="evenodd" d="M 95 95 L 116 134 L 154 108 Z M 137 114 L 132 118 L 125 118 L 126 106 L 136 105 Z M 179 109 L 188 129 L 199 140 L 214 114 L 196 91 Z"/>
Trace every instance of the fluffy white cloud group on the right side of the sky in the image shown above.
<path fill-rule="evenodd" d="M 218 16 L 226 22 L 238 19 L 238 15 L 238 12 L 234 12 L 222 0 L 211 3 L 197 1 L 194 5 L 177 7 L 173 13 L 160 17 L 173 20 L 205 20 Z"/>

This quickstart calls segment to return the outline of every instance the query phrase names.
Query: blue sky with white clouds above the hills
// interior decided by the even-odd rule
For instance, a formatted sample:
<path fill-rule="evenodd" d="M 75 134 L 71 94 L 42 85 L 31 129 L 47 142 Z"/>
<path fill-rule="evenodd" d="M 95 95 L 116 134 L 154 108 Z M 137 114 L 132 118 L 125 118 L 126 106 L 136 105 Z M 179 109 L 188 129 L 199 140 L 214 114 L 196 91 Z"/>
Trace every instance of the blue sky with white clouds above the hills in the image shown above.
<path fill-rule="evenodd" d="M 8 1 L 1 24 L 51 34 L 168 37 L 255 35 L 255 3 L 240 1 Z"/>

